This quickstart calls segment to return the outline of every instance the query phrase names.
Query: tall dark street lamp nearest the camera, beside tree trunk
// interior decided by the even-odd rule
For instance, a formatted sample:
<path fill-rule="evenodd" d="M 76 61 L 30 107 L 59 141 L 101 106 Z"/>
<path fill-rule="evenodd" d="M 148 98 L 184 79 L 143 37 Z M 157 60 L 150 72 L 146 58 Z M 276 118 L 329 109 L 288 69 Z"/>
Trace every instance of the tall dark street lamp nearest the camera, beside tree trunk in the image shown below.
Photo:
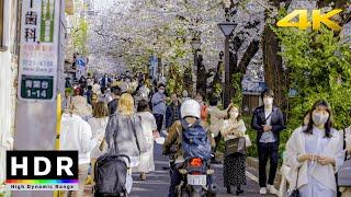
<path fill-rule="evenodd" d="M 230 73 L 229 73 L 229 37 L 237 24 L 231 22 L 218 23 L 218 26 L 225 35 L 225 88 L 224 88 L 224 107 L 230 103 Z"/>

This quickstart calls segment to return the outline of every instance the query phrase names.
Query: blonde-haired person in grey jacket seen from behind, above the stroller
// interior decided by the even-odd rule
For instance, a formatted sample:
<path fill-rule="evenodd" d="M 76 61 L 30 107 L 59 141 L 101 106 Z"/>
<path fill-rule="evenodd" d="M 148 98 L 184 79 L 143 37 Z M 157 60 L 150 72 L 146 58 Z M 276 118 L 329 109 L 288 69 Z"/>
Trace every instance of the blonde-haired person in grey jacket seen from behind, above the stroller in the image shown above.
<path fill-rule="evenodd" d="M 141 119 L 134 113 L 134 101 L 131 94 L 124 93 L 118 100 L 117 112 L 110 116 L 105 140 L 107 152 L 126 154 L 131 158 L 131 166 L 139 164 L 139 157 L 145 152 L 145 138 Z"/>

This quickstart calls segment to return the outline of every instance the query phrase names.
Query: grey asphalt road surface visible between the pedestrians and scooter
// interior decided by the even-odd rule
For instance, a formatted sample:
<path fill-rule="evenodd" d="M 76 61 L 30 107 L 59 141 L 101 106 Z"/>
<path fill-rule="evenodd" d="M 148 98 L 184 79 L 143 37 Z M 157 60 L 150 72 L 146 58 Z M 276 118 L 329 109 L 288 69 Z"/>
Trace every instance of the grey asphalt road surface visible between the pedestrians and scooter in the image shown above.
<path fill-rule="evenodd" d="M 133 188 L 132 188 L 132 197 L 167 197 L 168 187 L 170 183 L 169 171 L 163 170 L 163 166 L 168 166 L 168 158 L 161 155 L 161 146 L 155 144 L 155 164 L 156 171 L 147 175 L 146 181 L 140 181 L 139 174 L 134 174 L 133 179 Z M 215 183 L 219 186 L 218 197 L 229 197 L 235 195 L 228 195 L 226 193 L 226 188 L 223 186 L 223 166 L 222 164 L 214 165 L 215 169 Z M 235 192 L 235 188 L 233 189 Z M 244 186 L 244 195 L 247 197 L 260 196 L 258 194 L 259 186 L 256 182 L 247 177 L 247 185 Z M 91 189 L 88 186 L 86 188 L 87 197 L 92 196 Z M 269 195 L 267 195 L 269 196 Z"/>

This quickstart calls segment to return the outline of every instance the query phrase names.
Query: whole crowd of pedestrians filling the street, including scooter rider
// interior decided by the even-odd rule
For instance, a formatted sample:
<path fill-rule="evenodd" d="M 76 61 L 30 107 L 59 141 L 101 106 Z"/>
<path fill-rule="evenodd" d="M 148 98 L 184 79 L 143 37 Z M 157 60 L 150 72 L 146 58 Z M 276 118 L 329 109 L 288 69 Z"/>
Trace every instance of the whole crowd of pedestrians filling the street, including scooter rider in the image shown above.
<path fill-rule="evenodd" d="M 218 97 L 212 96 L 206 102 L 207 96 L 189 96 L 185 90 L 179 96 L 167 93 L 165 83 L 149 83 L 146 79 L 132 77 L 116 80 L 104 74 L 94 80 L 88 76 L 76 84 L 66 82 L 66 88 L 60 149 L 79 151 L 79 190 L 75 192 L 78 196 L 82 196 L 88 174 L 94 176 L 94 162 L 104 153 L 128 155 L 133 172 L 146 181 L 147 174 L 155 171 L 154 142 L 160 138 L 162 129 L 167 138 L 163 154 L 171 154 L 176 147 L 169 188 L 169 196 L 176 196 L 174 189 L 181 178 L 177 164 L 183 161 L 184 152 L 180 146 L 184 123 L 197 124 L 208 132 L 211 161 L 223 163 L 223 186 L 227 193 L 231 194 L 233 187 L 236 187 L 236 195 L 244 193 L 242 185 L 247 183 L 245 150 L 251 146 L 251 140 L 246 134 L 248 123 L 241 118 L 239 104 L 231 103 L 220 109 Z M 251 120 L 251 128 L 257 131 L 259 194 L 286 196 L 298 189 L 303 197 L 333 197 L 339 190 L 351 196 L 349 188 L 338 189 L 336 178 L 346 153 L 351 152 L 351 140 L 346 140 L 351 139 L 351 129 L 342 132 L 333 129 L 332 111 L 326 101 L 316 102 L 306 113 L 302 126 L 290 137 L 281 167 L 282 179 L 286 183 L 282 183 L 280 190 L 274 187 L 280 134 L 286 127 L 283 113 L 273 105 L 273 91 L 263 91 L 261 99 L 263 105 L 253 112 Z M 215 155 L 222 140 L 224 158 L 218 161 Z M 245 142 L 240 143 L 242 140 Z M 233 149 L 234 144 L 236 149 Z"/>

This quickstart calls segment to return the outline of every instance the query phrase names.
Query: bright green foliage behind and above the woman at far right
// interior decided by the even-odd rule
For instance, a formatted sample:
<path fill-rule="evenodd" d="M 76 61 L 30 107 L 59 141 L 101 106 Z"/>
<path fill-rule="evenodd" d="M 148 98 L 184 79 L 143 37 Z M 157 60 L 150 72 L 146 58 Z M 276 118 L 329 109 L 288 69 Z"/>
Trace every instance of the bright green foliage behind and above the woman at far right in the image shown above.
<path fill-rule="evenodd" d="M 339 36 L 326 27 L 320 31 L 273 28 L 290 71 L 290 84 L 298 92 L 291 100 L 290 125 L 301 124 L 303 114 L 318 100 L 327 100 L 339 129 L 350 125 L 351 51 Z"/>

